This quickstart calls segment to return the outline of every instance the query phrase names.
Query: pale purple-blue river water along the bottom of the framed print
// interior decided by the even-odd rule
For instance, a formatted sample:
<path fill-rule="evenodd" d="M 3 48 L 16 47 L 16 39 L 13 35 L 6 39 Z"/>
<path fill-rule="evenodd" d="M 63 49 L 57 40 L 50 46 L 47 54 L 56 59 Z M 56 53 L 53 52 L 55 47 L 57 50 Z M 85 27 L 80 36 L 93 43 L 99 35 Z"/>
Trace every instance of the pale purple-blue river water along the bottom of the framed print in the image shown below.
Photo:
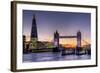
<path fill-rule="evenodd" d="M 67 61 L 67 60 L 87 60 L 91 55 L 61 55 L 61 52 L 42 52 L 23 54 L 23 62 L 44 62 L 44 61 Z"/>

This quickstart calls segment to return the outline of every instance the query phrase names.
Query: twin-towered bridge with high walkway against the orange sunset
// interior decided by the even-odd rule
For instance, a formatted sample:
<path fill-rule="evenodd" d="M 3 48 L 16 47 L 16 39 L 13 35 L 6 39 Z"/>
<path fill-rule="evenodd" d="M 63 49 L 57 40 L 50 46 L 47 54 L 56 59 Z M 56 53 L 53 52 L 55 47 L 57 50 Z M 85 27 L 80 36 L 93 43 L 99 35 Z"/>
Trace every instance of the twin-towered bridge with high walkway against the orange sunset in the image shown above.
<path fill-rule="evenodd" d="M 78 31 L 76 33 L 76 35 L 73 36 L 60 36 L 59 32 L 56 30 L 56 32 L 54 33 L 54 46 L 56 47 L 54 51 L 62 51 L 63 54 L 65 52 L 65 49 L 60 49 L 60 44 L 59 44 L 59 39 L 62 38 L 76 38 L 77 40 L 77 46 L 76 49 L 72 49 L 71 52 L 72 53 L 79 53 L 79 51 L 81 50 L 81 32 Z"/>

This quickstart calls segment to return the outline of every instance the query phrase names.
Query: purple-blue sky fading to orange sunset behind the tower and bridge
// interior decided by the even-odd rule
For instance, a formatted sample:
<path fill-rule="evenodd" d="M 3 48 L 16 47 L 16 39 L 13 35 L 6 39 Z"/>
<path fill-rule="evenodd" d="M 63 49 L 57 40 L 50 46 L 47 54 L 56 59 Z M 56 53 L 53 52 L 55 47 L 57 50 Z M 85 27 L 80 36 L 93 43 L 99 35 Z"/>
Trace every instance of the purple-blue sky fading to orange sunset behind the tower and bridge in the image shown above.
<path fill-rule="evenodd" d="M 90 13 L 23 10 L 23 35 L 27 36 L 27 41 L 30 39 L 33 14 L 36 18 L 39 41 L 53 41 L 56 30 L 61 36 L 76 35 L 80 30 L 82 39 L 90 43 Z M 76 39 L 60 39 L 60 43 L 76 45 Z"/>

